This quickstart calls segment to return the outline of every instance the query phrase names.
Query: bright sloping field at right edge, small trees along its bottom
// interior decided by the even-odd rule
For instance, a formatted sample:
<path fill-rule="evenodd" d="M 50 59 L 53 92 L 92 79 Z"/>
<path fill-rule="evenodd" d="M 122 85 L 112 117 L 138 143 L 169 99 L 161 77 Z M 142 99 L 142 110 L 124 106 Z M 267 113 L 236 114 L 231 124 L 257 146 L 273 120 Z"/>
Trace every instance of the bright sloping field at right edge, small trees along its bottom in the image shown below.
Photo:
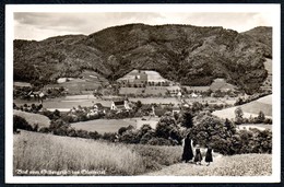
<path fill-rule="evenodd" d="M 259 112 L 262 110 L 265 115 L 265 117 L 271 118 L 272 117 L 272 95 L 268 95 L 264 97 L 261 97 L 257 101 L 240 105 L 240 106 L 234 106 L 226 109 L 221 109 L 213 112 L 213 115 L 218 116 L 221 118 L 235 118 L 235 109 L 237 107 L 240 107 L 244 112 L 244 117 L 249 118 L 250 116 L 257 117 Z"/>

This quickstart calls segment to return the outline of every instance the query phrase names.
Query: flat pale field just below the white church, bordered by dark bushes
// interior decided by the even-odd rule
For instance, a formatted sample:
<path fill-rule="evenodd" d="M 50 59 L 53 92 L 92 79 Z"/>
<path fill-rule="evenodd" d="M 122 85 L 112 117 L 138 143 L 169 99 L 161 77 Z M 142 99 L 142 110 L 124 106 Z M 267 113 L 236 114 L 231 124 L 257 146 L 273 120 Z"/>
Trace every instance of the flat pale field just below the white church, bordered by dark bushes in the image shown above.
<path fill-rule="evenodd" d="M 71 124 L 71 127 L 75 129 L 82 129 L 87 131 L 97 131 L 98 133 L 117 132 L 121 127 L 128 127 L 129 125 L 137 127 L 134 119 L 95 119 L 88 121 L 81 121 Z"/>

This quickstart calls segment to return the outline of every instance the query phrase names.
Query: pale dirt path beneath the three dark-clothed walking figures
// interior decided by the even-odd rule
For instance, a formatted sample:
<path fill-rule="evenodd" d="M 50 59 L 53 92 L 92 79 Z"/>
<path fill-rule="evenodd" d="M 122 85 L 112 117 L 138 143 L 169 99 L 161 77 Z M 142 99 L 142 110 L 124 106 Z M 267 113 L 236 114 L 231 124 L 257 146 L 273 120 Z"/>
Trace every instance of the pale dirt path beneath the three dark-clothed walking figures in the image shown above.
<path fill-rule="evenodd" d="M 214 162 L 206 166 L 204 159 L 202 165 L 197 165 L 194 163 L 178 163 L 167 167 L 162 168 L 157 172 L 146 173 L 145 175 L 151 176 L 205 176 L 214 174 L 216 168 L 223 167 L 222 155 L 215 156 Z"/>

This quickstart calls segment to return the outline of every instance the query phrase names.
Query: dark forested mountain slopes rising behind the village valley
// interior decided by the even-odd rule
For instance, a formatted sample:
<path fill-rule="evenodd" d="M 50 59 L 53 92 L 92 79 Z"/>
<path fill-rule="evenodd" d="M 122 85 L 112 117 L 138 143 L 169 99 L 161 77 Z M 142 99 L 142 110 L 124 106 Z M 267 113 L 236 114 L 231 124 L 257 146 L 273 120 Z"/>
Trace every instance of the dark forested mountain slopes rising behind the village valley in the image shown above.
<path fill-rule="evenodd" d="M 129 24 L 88 36 L 14 40 L 14 79 L 47 82 L 90 69 L 113 81 L 133 69 L 146 69 L 186 85 L 209 85 L 225 78 L 252 93 L 267 78 L 269 44 L 222 27 Z"/>

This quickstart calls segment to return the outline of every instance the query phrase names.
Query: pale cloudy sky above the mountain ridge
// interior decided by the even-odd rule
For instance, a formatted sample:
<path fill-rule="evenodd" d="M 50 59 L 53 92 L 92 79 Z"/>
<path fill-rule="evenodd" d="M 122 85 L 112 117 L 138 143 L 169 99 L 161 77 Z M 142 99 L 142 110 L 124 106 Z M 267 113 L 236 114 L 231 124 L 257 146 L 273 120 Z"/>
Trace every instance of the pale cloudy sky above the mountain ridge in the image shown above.
<path fill-rule="evenodd" d="M 14 12 L 14 38 L 42 40 L 68 34 L 90 35 L 109 26 L 130 23 L 223 26 L 245 32 L 272 26 L 265 12 Z"/>

